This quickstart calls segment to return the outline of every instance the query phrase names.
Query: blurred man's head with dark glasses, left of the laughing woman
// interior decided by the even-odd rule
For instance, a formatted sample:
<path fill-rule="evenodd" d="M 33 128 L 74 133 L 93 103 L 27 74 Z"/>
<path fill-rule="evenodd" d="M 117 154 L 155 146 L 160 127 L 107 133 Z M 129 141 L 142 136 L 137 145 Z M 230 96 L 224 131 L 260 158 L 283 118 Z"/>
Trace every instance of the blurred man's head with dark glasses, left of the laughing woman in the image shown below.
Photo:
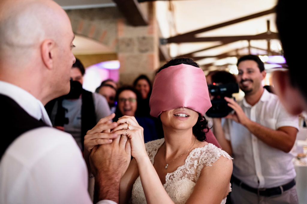
<path fill-rule="evenodd" d="M 113 87 L 110 84 L 103 84 L 103 85 L 100 85 L 96 89 L 95 92 L 99 93 L 100 95 L 104 96 L 104 98 L 107 99 L 111 113 L 114 113 L 116 109 L 116 104 L 115 104 L 116 89 L 115 87 Z"/>

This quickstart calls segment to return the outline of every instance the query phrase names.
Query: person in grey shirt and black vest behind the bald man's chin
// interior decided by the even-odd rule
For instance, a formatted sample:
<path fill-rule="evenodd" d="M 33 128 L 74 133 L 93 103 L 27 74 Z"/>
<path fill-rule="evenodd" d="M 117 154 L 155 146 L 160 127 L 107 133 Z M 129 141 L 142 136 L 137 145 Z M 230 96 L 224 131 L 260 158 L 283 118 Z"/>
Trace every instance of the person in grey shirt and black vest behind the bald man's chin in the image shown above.
<path fill-rule="evenodd" d="M 82 88 L 84 73 L 83 64 L 76 59 L 70 72 L 72 82 L 69 94 L 45 106 L 52 125 L 70 133 L 81 150 L 84 150 L 86 132 L 110 114 L 108 102 L 103 96 Z"/>

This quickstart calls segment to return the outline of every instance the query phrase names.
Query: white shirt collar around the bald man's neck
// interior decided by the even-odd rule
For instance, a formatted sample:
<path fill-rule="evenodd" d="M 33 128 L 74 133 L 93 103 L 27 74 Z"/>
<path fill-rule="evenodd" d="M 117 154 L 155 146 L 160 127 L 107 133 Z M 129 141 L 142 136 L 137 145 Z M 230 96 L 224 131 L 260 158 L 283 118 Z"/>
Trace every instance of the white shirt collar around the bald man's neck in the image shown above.
<path fill-rule="evenodd" d="M 0 87 L 0 93 L 2 95 L 12 98 L 30 116 L 37 120 L 42 119 L 47 125 L 52 126 L 47 111 L 41 101 L 37 100 L 29 92 L 11 83 L 0 81 Z"/>

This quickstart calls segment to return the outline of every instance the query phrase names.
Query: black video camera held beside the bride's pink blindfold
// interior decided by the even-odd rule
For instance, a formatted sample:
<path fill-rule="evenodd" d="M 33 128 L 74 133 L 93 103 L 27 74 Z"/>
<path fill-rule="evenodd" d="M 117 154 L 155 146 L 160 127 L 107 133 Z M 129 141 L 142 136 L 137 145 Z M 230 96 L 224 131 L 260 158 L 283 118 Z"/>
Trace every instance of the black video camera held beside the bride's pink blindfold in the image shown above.
<path fill-rule="evenodd" d="M 206 112 L 209 117 L 225 117 L 233 109 L 227 105 L 224 97 L 232 97 L 233 93 L 239 92 L 239 85 L 237 83 L 228 83 L 221 85 L 208 85 L 209 93 L 214 96 L 211 100 L 212 107 Z"/>

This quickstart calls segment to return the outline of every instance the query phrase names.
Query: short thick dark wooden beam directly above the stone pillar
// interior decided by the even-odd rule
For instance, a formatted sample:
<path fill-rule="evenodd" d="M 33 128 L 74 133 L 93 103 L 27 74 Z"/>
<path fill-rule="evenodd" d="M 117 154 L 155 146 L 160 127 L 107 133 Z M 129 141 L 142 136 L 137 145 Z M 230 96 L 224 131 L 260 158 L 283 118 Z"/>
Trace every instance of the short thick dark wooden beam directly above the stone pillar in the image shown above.
<path fill-rule="evenodd" d="M 133 26 L 148 25 L 148 17 L 142 12 L 137 0 L 113 0 L 126 20 Z"/>

